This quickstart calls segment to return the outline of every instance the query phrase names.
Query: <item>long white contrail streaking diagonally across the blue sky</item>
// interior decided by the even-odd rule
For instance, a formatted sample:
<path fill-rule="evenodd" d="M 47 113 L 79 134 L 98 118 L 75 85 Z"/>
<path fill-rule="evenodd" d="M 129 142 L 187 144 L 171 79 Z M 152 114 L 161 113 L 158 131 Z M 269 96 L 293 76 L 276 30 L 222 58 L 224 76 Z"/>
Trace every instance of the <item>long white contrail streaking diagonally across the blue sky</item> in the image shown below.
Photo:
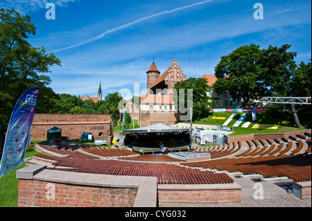
<path fill-rule="evenodd" d="M 137 23 L 139 23 L 139 22 L 141 22 L 141 21 L 144 21 L 144 20 L 146 20 L 146 19 L 150 19 L 150 18 L 157 17 L 157 16 L 160 16 L 160 15 L 169 14 L 169 13 L 176 12 L 176 11 L 178 11 L 178 10 L 183 10 L 183 9 L 186 9 L 186 8 L 191 8 L 191 7 L 193 7 L 193 6 L 199 6 L 199 5 L 208 3 L 208 2 L 210 2 L 210 1 L 214 1 L 214 0 L 200 1 L 200 2 L 198 2 L 198 3 L 193 3 L 193 4 L 189 5 L 189 6 L 183 6 L 183 7 L 180 7 L 180 8 L 175 8 L 175 9 L 173 9 L 173 10 L 166 10 L 166 11 L 164 11 L 164 12 L 159 12 L 159 13 L 156 13 L 156 14 L 153 14 L 153 15 L 149 15 L 149 16 L 146 16 L 146 17 L 144 17 L 144 18 L 137 19 L 136 21 L 129 22 L 128 24 L 123 24 L 123 25 L 118 26 L 118 27 L 116 27 L 116 28 L 112 28 L 112 29 L 110 29 L 110 30 L 106 30 L 106 31 L 103 32 L 101 35 L 97 35 L 96 37 L 92 37 L 92 38 L 86 39 L 85 41 L 79 42 L 78 44 L 73 44 L 73 45 L 71 45 L 71 46 L 67 46 L 67 47 L 64 47 L 64 48 L 59 48 L 59 49 L 56 49 L 56 50 L 54 50 L 54 51 L 52 51 L 52 52 L 64 51 L 64 50 L 67 50 L 67 49 L 69 49 L 69 48 L 75 48 L 75 47 L 77 47 L 77 46 L 80 46 L 80 45 L 83 45 L 83 44 L 87 44 L 87 43 L 89 43 L 89 42 L 93 42 L 93 41 L 95 41 L 96 39 L 100 39 L 101 37 L 104 37 L 104 36 L 107 35 L 107 34 L 114 33 L 116 30 L 121 30 L 121 29 L 123 29 L 123 28 L 127 28 L 127 27 L 129 27 L 129 26 L 132 26 L 132 25 L 134 25 L 134 24 L 137 24 Z"/>

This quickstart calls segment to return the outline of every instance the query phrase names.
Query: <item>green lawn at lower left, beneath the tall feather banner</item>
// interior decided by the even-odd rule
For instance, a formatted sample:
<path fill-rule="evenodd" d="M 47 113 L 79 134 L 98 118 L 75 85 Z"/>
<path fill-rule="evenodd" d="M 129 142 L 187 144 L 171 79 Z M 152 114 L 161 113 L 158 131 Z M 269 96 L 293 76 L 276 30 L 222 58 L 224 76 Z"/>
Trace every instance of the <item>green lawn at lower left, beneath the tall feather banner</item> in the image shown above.
<path fill-rule="evenodd" d="M 38 154 L 35 150 L 27 150 L 25 158 L 33 157 Z M 17 186 L 19 179 L 16 178 L 16 170 L 24 168 L 26 163 L 11 170 L 0 178 L 0 207 L 17 207 L 18 191 Z"/>

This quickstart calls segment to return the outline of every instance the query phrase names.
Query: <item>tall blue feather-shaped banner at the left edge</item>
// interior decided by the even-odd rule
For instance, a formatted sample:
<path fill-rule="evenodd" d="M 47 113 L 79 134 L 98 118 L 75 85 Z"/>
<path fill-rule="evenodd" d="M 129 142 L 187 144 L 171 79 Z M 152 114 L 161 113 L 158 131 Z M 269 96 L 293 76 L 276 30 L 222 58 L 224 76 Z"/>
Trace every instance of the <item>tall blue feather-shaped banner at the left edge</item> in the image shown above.
<path fill-rule="evenodd" d="M 13 109 L 3 147 L 0 177 L 24 163 L 39 94 L 40 87 L 26 90 Z"/>

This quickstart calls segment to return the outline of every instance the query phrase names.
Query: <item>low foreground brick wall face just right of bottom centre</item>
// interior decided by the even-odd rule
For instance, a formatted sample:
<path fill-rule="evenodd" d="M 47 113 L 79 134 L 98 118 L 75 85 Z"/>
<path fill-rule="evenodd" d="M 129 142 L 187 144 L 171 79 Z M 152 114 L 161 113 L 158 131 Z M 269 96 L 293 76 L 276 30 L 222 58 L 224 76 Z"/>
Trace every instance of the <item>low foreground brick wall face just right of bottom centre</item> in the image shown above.
<path fill-rule="evenodd" d="M 205 206 L 240 203 L 241 189 L 232 190 L 159 190 L 159 207 Z"/>

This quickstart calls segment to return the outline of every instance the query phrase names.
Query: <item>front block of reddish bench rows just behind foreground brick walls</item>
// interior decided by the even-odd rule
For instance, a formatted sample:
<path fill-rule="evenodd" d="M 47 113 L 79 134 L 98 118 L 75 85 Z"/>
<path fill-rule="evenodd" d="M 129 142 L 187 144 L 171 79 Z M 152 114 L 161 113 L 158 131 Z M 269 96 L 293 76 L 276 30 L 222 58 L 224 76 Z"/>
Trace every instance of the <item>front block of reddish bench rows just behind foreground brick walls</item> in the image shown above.
<path fill-rule="evenodd" d="M 225 173 L 213 173 L 166 163 L 72 159 L 72 161 L 58 161 L 55 165 L 78 166 L 76 170 L 70 170 L 76 173 L 157 177 L 158 184 L 227 184 L 234 182 Z"/>

